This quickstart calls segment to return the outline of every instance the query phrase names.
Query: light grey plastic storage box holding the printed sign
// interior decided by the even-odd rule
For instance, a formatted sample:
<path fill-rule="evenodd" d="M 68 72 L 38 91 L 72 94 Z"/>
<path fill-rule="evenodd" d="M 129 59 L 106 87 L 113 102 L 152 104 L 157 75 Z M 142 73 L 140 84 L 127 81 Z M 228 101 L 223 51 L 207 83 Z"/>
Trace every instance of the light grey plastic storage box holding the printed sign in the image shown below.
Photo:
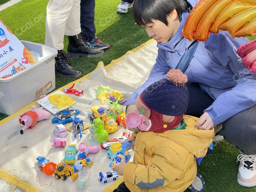
<path fill-rule="evenodd" d="M 0 112 L 11 115 L 55 89 L 57 50 L 43 44 L 21 41 L 42 58 L 12 77 L 0 79 Z"/>

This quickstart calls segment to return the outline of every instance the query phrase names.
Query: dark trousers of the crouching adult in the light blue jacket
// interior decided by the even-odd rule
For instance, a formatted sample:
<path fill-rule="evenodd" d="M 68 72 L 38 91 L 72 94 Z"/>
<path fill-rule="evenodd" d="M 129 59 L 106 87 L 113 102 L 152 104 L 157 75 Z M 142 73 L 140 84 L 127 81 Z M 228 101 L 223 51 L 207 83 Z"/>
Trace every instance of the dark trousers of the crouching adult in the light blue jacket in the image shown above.
<path fill-rule="evenodd" d="M 186 85 L 189 91 L 186 114 L 200 117 L 214 100 L 197 83 Z M 256 105 L 224 121 L 219 134 L 244 154 L 256 154 Z"/>

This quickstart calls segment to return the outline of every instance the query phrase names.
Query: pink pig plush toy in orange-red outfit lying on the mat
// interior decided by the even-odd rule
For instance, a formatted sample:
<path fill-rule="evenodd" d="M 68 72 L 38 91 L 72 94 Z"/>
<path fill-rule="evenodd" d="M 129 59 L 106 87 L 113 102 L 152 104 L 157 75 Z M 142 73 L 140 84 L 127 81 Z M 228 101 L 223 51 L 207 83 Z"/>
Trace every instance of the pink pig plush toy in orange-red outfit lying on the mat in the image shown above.
<path fill-rule="evenodd" d="M 32 129 L 37 121 L 49 119 L 51 114 L 48 111 L 43 110 L 43 107 L 36 108 L 35 105 L 31 106 L 32 111 L 27 111 L 19 116 L 19 122 L 22 127 L 20 133 L 26 129 Z"/>

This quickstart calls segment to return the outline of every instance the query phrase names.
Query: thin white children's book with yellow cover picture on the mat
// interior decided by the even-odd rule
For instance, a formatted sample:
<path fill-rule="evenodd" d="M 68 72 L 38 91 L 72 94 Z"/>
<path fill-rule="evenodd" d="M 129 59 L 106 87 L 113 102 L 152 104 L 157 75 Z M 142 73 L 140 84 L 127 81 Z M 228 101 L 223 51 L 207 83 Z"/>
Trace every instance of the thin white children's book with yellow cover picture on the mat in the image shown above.
<path fill-rule="evenodd" d="M 37 101 L 39 105 L 54 115 L 55 113 L 72 106 L 76 102 L 75 99 L 60 90 Z"/>

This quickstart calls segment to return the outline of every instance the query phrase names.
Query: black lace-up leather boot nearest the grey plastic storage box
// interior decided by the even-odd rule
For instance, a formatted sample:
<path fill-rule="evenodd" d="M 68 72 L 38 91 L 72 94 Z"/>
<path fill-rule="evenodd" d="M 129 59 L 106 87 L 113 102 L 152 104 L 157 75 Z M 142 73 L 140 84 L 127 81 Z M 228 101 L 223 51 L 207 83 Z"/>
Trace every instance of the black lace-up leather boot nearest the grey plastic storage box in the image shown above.
<path fill-rule="evenodd" d="M 60 50 L 55 57 L 55 73 L 63 78 L 80 77 L 82 73 L 70 65 L 67 54 Z"/>

